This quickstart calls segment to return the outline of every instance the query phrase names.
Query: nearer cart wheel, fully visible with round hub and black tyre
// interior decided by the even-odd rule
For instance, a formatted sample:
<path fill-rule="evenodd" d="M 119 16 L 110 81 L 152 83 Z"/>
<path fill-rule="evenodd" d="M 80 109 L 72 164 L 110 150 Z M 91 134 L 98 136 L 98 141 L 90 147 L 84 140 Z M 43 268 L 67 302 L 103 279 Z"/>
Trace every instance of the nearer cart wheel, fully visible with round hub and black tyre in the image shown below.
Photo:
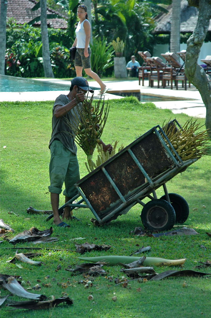
<path fill-rule="evenodd" d="M 175 225 L 176 215 L 171 204 L 155 199 L 144 205 L 141 219 L 143 226 L 149 231 L 165 231 Z"/>

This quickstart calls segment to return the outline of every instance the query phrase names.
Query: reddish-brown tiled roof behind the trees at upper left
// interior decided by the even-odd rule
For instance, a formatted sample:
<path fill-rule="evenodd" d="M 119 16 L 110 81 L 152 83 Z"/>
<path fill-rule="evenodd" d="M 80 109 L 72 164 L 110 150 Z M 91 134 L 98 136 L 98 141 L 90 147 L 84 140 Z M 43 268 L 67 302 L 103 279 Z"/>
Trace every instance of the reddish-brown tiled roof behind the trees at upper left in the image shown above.
<path fill-rule="evenodd" d="M 16 23 L 24 24 L 29 23 L 32 19 L 37 16 L 40 16 L 41 10 L 32 11 L 31 9 L 37 3 L 36 0 L 8 0 L 7 1 L 7 17 L 14 18 Z M 54 11 L 50 8 L 47 8 L 47 15 L 54 13 L 55 15 L 59 15 L 61 17 L 65 17 L 57 11 Z M 68 18 L 68 17 L 66 17 Z M 40 27 L 41 22 L 35 22 L 33 26 Z M 47 24 L 49 28 L 53 29 L 67 29 L 68 22 L 65 19 L 61 18 L 52 18 L 47 19 Z"/>

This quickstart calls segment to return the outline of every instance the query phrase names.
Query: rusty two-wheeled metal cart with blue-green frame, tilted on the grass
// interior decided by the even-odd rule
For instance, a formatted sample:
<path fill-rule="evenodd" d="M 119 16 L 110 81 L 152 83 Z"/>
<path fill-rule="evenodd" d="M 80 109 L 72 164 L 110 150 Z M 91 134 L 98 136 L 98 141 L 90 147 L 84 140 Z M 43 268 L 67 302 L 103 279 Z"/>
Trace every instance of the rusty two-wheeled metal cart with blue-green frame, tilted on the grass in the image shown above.
<path fill-rule="evenodd" d="M 178 121 L 172 123 L 172 129 L 181 128 Z M 145 228 L 169 230 L 176 222 L 187 220 L 189 207 L 183 197 L 168 193 L 166 182 L 197 160 L 183 162 L 157 125 L 76 183 L 78 194 L 60 207 L 59 213 L 65 206 L 89 208 L 101 225 L 126 214 L 138 203 L 143 206 L 141 219 Z M 161 186 L 165 194 L 158 199 L 156 190 Z M 82 199 L 73 204 L 79 197 Z M 151 201 L 143 203 L 145 197 Z M 46 220 L 50 218 L 52 215 Z"/>

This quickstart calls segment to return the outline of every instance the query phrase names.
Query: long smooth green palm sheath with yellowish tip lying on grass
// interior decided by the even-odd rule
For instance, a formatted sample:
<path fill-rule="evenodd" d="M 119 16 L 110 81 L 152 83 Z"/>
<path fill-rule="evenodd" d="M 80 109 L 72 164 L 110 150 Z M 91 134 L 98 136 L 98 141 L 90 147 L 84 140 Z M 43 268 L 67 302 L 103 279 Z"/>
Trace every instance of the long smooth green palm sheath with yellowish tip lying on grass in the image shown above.
<path fill-rule="evenodd" d="M 110 255 L 110 256 L 97 256 L 97 257 L 78 257 L 87 262 L 100 262 L 106 261 L 109 265 L 117 265 L 117 264 L 129 264 L 136 260 L 139 260 L 140 257 L 135 256 L 119 256 L 119 255 Z M 184 264 L 186 259 L 162 259 L 159 257 L 146 257 L 144 261 L 145 266 L 180 266 Z"/>

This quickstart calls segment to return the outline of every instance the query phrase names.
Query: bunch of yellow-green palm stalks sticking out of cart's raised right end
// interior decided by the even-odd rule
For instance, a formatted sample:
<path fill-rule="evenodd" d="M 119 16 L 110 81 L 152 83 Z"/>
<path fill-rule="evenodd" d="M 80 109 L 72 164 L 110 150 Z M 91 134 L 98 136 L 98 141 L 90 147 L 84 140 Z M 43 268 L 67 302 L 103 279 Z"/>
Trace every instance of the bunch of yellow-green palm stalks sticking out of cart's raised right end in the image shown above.
<path fill-rule="evenodd" d="M 163 123 L 164 125 L 164 123 Z M 176 128 L 172 121 L 169 121 L 162 128 L 172 146 L 176 150 L 177 154 L 183 161 L 195 158 L 201 158 L 201 156 L 211 155 L 211 144 L 208 130 L 199 132 L 200 126 L 196 120 L 189 119 L 186 121 L 182 128 Z M 163 137 L 168 145 L 167 140 Z M 171 147 L 168 145 L 171 149 Z M 175 154 L 173 153 L 175 156 Z"/>

